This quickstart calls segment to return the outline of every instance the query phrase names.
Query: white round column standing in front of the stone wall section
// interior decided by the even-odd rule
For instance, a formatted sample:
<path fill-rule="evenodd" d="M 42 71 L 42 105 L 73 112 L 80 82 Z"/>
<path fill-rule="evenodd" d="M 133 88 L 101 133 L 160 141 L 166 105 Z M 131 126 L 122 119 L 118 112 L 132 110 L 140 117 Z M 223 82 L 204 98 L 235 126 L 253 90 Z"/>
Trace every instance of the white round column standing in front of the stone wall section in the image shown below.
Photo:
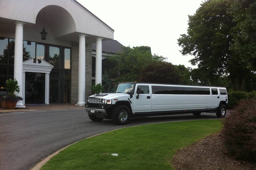
<path fill-rule="evenodd" d="M 76 106 L 85 105 L 85 34 L 79 36 L 79 64 L 78 64 L 78 102 Z"/>

